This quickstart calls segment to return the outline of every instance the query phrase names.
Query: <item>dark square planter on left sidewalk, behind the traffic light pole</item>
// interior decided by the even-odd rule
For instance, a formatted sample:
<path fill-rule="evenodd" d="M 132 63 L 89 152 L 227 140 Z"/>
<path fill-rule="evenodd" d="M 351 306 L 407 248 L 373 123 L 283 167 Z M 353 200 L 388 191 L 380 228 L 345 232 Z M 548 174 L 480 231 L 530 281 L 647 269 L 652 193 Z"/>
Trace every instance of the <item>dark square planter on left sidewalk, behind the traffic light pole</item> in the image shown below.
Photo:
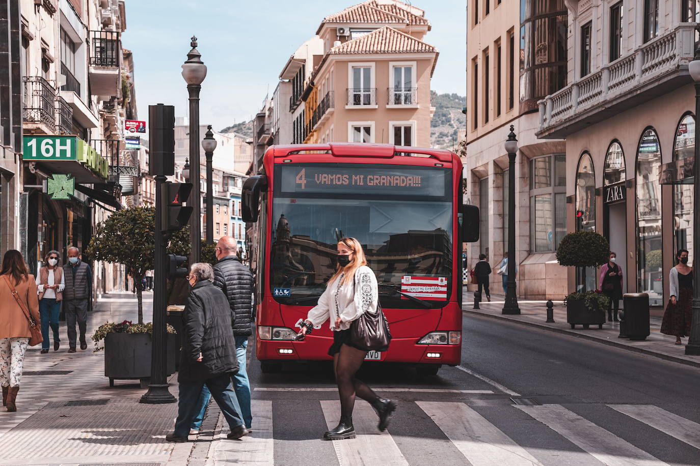
<path fill-rule="evenodd" d="M 167 334 L 167 374 L 175 372 L 174 347 L 177 335 Z M 151 379 L 151 335 L 148 333 L 108 333 L 104 338 L 104 377 L 109 386 L 115 380 L 139 379 L 146 388 Z"/>

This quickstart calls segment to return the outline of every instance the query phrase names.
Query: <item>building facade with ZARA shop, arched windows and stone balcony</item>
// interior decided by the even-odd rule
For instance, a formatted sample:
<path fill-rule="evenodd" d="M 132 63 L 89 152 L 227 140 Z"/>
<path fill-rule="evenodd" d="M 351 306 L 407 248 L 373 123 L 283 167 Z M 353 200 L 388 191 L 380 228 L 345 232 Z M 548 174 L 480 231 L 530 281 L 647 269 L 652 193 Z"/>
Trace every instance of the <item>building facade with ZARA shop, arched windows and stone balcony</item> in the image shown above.
<path fill-rule="evenodd" d="M 687 68 L 699 2 L 566 6 L 568 85 L 540 101 L 538 136 L 566 138 L 567 231 L 603 234 L 623 267 L 623 291 L 649 293 L 661 306 L 673 251 L 689 249 L 694 258 L 696 127 Z M 570 270 L 569 289 L 581 284 Z"/>

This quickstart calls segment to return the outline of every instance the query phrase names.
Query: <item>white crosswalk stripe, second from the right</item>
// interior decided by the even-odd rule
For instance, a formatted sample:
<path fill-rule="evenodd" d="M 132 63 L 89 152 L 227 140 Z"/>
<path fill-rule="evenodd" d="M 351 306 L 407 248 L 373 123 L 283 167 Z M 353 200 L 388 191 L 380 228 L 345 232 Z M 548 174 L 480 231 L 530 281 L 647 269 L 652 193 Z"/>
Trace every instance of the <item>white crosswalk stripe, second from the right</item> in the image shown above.
<path fill-rule="evenodd" d="M 560 405 L 516 406 L 608 466 L 665 465 L 601 426 Z"/>

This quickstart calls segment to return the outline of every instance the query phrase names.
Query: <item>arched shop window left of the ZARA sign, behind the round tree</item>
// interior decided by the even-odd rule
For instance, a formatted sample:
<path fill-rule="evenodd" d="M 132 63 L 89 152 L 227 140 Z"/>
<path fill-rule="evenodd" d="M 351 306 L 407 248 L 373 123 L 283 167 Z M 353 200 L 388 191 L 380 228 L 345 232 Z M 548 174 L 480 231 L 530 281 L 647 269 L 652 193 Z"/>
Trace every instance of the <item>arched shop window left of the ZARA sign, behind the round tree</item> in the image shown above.
<path fill-rule="evenodd" d="M 576 170 L 576 231 L 596 231 L 596 173 L 591 154 L 584 152 Z M 576 288 L 596 289 L 596 269 L 594 267 L 576 269 Z"/>

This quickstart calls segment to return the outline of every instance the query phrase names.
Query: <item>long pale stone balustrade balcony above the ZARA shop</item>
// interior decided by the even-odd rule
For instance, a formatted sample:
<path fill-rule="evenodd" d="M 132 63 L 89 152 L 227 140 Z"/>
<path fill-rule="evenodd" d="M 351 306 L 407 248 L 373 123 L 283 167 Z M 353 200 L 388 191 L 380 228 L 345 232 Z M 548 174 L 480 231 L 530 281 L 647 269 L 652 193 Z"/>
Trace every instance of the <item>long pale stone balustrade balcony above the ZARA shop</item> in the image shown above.
<path fill-rule="evenodd" d="M 691 82 L 688 64 L 694 55 L 695 28 L 695 23 L 680 23 L 542 99 L 537 136 L 566 137 L 633 107 L 640 100 L 653 99 L 666 89 Z"/>

